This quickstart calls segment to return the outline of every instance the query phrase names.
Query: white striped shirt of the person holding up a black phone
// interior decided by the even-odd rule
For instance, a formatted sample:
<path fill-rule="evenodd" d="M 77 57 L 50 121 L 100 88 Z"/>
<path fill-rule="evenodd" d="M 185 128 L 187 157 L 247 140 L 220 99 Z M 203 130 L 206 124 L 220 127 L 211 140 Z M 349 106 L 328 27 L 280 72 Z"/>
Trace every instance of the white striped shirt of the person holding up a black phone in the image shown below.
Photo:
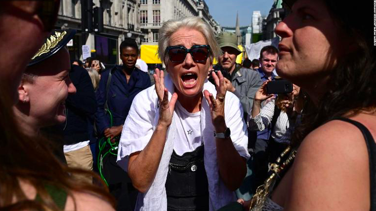
<path fill-rule="evenodd" d="M 274 114 L 274 100 L 267 103 L 260 111 L 260 113 L 252 118 L 248 118 L 248 127 L 251 130 L 261 131 L 265 128 L 270 128 Z M 299 118 L 299 117 L 297 117 Z M 287 113 L 281 111 L 274 126 L 271 135 L 275 142 L 290 144 L 291 135 L 294 129 L 294 122 Z"/>

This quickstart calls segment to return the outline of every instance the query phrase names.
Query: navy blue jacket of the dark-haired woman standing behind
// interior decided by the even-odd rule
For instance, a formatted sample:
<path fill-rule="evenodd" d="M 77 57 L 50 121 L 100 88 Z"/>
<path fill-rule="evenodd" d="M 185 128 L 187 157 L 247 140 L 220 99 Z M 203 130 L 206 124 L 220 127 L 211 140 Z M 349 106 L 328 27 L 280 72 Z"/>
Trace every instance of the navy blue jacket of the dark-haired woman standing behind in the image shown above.
<path fill-rule="evenodd" d="M 101 81 L 96 92 L 98 109 L 95 114 L 95 121 L 98 128 L 98 134 L 103 134 L 106 128 L 111 127 L 110 116 L 104 110 L 104 104 L 107 99 L 108 109 L 112 114 L 112 126 L 120 126 L 125 122 L 133 98 L 142 90 L 151 85 L 149 75 L 135 68 L 126 81 L 122 66 L 115 66 L 111 70 L 102 73 Z M 111 71 L 111 82 L 106 93 L 108 75 Z"/>

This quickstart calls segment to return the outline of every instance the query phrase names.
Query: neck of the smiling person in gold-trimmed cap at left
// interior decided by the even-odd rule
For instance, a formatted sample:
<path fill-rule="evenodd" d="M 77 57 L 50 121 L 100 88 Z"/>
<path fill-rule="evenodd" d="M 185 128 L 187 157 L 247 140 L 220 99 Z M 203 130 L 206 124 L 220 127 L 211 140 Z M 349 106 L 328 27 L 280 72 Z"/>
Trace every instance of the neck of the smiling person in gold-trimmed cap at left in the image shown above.
<path fill-rule="evenodd" d="M 38 136 L 41 127 L 37 124 L 37 121 L 29 115 L 29 112 L 25 112 L 27 110 L 25 106 L 27 105 L 20 105 L 19 103 L 13 106 L 16 122 L 24 134 Z"/>

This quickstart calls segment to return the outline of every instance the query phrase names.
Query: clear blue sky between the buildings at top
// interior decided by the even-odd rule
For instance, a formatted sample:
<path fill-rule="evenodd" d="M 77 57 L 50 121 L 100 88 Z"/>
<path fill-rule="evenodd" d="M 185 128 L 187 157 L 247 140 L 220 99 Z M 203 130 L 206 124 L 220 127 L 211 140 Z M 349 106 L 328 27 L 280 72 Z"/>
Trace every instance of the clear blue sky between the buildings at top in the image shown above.
<path fill-rule="evenodd" d="M 261 11 L 262 16 L 267 16 L 274 0 L 205 0 L 209 13 L 221 26 L 236 24 L 236 11 L 239 13 L 240 26 L 251 24 L 254 10 Z"/>

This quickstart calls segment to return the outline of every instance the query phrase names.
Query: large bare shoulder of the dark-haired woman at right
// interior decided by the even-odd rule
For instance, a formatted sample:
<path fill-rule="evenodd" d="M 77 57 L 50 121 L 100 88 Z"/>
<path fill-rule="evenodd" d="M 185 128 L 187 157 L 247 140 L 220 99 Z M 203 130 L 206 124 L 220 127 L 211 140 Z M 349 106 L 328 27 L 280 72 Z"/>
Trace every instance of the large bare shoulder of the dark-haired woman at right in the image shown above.
<path fill-rule="evenodd" d="M 313 130 L 298 148 L 285 209 L 368 211 L 369 181 L 362 133 L 347 122 L 330 121 Z"/>

